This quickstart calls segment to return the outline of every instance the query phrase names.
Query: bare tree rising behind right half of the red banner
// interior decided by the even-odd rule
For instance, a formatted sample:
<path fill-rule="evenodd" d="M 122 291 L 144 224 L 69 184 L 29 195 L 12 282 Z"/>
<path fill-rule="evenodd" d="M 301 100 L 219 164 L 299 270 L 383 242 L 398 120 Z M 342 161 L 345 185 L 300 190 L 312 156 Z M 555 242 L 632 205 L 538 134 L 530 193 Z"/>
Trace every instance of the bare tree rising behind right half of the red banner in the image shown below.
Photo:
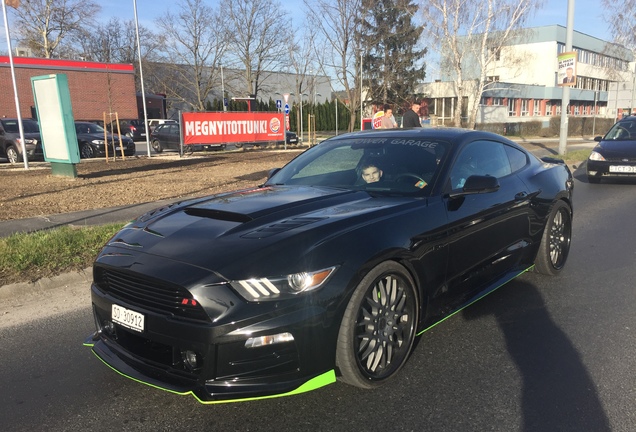
<path fill-rule="evenodd" d="M 287 13 L 274 0 L 223 0 L 221 8 L 229 66 L 243 69 L 243 91 L 256 97 L 267 76 L 286 59 L 280 32 L 289 28 Z"/>

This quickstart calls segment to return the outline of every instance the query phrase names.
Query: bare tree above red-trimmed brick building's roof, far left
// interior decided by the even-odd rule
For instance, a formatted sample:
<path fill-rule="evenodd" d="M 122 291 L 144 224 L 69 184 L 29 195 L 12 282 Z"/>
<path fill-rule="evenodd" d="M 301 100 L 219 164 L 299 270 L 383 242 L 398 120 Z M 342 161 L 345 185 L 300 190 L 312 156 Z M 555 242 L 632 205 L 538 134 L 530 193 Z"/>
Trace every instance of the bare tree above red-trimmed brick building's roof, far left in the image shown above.
<path fill-rule="evenodd" d="M 65 38 L 94 25 L 101 7 L 92 0 L 22 0 L 14 9 L 19 42 L 51 58 Z"/>

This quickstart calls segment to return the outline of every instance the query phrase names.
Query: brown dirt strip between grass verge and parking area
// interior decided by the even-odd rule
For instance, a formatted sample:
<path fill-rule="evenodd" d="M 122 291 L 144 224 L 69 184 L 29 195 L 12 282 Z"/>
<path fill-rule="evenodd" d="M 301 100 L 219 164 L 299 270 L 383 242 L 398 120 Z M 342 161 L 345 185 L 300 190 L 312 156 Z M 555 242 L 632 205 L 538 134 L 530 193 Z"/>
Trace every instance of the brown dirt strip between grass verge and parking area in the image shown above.
<path fill-rule="evenodd" d="M 204 196 L 263 183 L 304 149 L 242 150 L 82 160 L 77 178 L 51 174 L 50 165 L 0 164 L 0 220 L 23 219 L 162 199 Z"/>

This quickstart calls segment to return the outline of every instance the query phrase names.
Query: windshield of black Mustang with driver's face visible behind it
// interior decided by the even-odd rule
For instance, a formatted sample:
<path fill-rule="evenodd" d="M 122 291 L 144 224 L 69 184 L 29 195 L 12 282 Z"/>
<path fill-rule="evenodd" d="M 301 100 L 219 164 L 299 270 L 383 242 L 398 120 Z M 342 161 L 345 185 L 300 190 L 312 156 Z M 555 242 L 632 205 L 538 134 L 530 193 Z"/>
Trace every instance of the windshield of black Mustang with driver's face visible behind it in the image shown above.
<path fill-rule="evenodd" d="M 445 141 L 395 135 L 332 138 L 299 155 L 267 184 L 420 194 L 430 190 L 449 147 Z"/>

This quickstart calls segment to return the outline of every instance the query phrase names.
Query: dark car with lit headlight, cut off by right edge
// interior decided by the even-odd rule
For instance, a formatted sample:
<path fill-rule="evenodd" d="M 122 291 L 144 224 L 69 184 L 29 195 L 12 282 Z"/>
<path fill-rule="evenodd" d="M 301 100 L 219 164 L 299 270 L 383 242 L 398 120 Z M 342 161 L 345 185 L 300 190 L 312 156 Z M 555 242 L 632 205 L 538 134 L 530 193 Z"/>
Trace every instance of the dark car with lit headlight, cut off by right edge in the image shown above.
<path fill-rule="evenodd" d="M 636 116 L 616 122 L 598 142 L 587 159 L 587 179 L 600 183 L 602 178 L 636 179 Z"/>

